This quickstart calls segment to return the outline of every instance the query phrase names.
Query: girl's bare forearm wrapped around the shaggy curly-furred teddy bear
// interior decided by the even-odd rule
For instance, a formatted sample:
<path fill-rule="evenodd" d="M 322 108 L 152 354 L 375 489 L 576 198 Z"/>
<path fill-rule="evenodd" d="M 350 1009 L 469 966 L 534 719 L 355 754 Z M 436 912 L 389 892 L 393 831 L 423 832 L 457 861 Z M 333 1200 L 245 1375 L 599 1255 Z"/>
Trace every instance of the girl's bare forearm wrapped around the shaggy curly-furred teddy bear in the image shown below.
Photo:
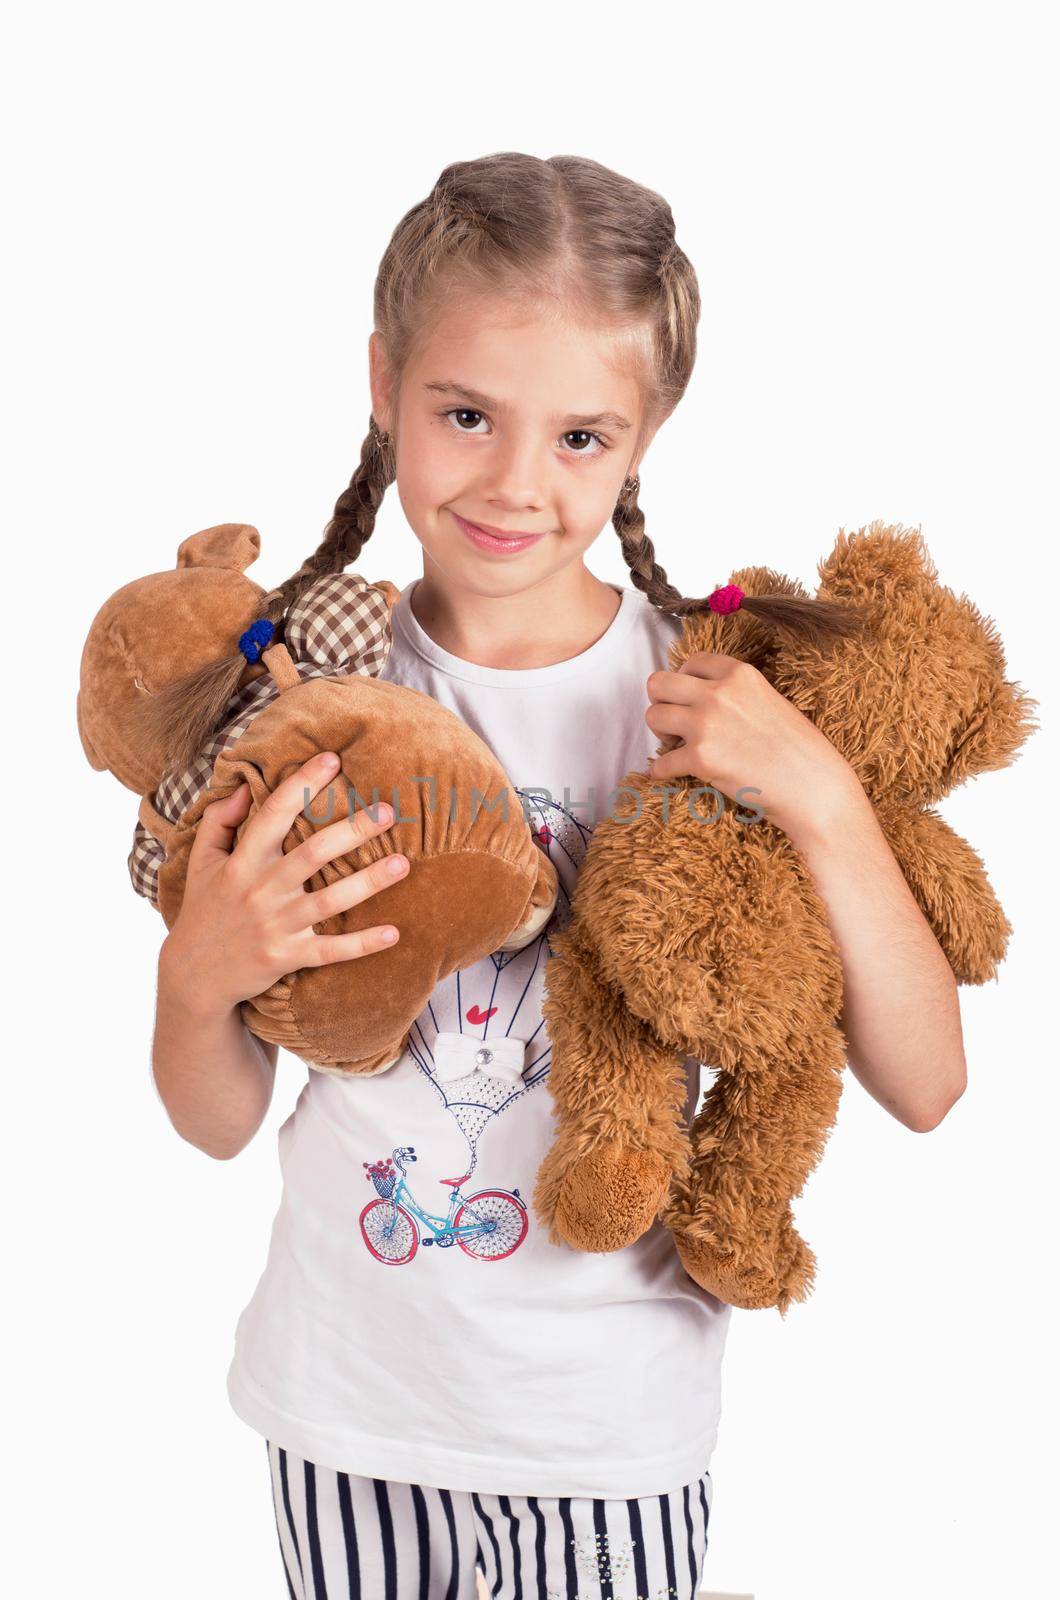
<path fill-rule="evenodd" d="M 967 1083 L 953 970 L 853 773 L 786 832 L 842 958 L 850 1070 L 892 1117 L 927 1133 Z"/>

